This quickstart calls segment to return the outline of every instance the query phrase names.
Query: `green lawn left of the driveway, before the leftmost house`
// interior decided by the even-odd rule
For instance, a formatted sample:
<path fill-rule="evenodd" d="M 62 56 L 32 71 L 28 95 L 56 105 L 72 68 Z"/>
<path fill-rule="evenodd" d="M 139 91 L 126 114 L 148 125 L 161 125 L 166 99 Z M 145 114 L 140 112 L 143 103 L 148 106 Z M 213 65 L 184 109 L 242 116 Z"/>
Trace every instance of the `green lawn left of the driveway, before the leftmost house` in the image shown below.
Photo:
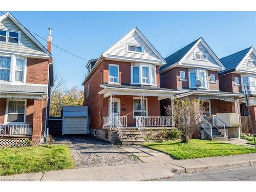
<path fill-rule="evenodd" d="M 0 149 L 0 176 L 73 168 L 68 146 L 45 145 Z"/>

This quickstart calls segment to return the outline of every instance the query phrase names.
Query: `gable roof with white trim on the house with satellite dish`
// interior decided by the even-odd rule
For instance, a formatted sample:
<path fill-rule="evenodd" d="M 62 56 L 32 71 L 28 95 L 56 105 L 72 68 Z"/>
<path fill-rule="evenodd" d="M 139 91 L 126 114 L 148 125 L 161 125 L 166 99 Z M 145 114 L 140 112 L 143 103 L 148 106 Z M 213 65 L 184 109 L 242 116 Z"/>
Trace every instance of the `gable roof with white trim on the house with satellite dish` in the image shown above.
<path fill-rule="evenodd" d="M 189 52 L 199 43 L 201 42 L 204 48 L 207 50 L 207 52 L 211 55 L 211 57 L 218 63 L 218 65 L 221 67 L 221 70 L 225 69 L 225 67 L 222 65 L 220 59 L 217 57 L 217 55 L 211 50 L 211 48 L 208 46 L 208 44 L 205 42 L 203 37 L 200 37 L 187 46 L 183 47 L 182 49 L 176 51 L 172 55 L 165 58 L 166 65 L 162 66 L 160 68 L 160 71 L 163 72 L 163 70 L 167 70 L 167 68 L 174 67 L 175 64 L 179 65 L 184 58 L 189 54 Z"/>

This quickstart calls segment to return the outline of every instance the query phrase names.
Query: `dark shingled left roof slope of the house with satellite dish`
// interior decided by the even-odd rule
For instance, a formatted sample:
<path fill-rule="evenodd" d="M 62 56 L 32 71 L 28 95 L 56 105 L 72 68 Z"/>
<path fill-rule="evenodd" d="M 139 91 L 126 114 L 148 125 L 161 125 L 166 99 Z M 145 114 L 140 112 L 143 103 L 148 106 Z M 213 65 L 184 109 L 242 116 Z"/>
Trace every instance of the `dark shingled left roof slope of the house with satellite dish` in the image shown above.
<path fill-rule="evenodd" d="M 201 38 L 201 37 L 200 37 Z M 160 70 L 164 70 L 167 67 L 170 67 L 172 65 L 174 65 L 175 63 L 179 62 L 186 54 L 187 52 L 193 48 L 193 46 L 197 43 L 197 41 L 200 39 L 198 38 L 197 40 L 194 40 L 193 42 L 191 42 L 190 44 L 188 44 L 187 46 L 181 48 L 180 50 L 176 51 L 175 53 L 173 53 L 172 55 L 169 55 L 168 57 L 165 58 L 166 61 L 166 65 L 162 66 L 160 68 Z"/>

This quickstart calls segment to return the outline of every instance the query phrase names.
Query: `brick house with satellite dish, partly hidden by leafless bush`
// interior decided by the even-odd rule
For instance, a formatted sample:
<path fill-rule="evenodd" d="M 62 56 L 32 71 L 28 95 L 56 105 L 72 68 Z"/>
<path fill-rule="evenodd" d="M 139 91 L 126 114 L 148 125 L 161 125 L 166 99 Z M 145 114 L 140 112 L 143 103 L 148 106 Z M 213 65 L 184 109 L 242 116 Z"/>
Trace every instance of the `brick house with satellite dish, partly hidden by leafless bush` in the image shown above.
<path fill-rule="evenodd" d="M 220 91 L 218 72 L 225 67 L 202 37 L 166 57 L 165 61 L 167 64 L 160 68 L 160 87 L 179 90 L 174 95 L 177 99 L 203 100 L 205 110 L 201 113 L 205 120 L 217 113 L 239 113 L 242 95 Z M 201 86 L 197 87 L 197 83 Z M 162 115 L 165 115 L 164 106 L 170 103 L 170 99 L 161 100 Z"/>

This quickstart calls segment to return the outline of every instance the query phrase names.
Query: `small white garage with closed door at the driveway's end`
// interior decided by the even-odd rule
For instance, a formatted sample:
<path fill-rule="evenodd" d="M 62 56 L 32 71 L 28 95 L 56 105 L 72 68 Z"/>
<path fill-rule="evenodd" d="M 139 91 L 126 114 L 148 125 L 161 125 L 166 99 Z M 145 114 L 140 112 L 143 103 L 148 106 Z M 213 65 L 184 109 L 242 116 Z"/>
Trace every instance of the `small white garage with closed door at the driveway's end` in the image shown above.
<path fill-rule="evenodd" d="M 63 106 L 62 135 L 89 134 L 88 106 Z"/>

